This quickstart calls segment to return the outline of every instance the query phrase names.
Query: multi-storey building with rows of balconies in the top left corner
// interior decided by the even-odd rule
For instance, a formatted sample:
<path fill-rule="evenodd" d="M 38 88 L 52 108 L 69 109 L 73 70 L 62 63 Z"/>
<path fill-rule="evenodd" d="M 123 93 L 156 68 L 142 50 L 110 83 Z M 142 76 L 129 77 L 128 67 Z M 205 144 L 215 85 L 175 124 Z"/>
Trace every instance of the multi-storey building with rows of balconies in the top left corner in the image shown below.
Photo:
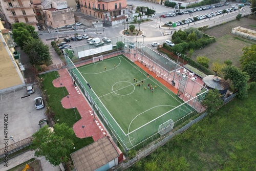
<path fill-rule="evenodd" d="M 10 25 L 13 23 L 27 23 L 35 27 L 37 20 L 30 0 L 0 0 L 2 15 Z"/>

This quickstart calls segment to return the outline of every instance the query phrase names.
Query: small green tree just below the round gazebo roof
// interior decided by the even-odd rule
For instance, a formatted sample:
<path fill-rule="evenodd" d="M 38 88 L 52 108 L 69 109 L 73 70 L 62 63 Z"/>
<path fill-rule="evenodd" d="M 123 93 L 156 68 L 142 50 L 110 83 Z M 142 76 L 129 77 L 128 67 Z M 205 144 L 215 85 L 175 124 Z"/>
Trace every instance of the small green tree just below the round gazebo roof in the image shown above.
<path fill-rule="evenodd" d="M 220 98 L 219 90 L 209 90 L 207 96 L 202 101 L 202 105 L 204 106 L 206 112 L 209 115 L 216 114 L 220 106 L 223 105 L 223 101 Z"/>

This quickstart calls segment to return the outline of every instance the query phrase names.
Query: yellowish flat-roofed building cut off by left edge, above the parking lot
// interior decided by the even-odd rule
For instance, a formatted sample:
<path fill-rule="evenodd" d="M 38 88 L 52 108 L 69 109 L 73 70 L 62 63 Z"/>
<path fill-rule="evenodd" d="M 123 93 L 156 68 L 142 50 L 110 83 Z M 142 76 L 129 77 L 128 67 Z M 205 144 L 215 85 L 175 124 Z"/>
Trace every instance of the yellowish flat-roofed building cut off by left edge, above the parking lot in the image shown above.
<path fill-rule="evenodd" d="M 0 23 L 0 94 L 25 87 L 19 54 L 14 49 L 12 33 Z M 15 56 L 15 57 L 14 57 Z"/>

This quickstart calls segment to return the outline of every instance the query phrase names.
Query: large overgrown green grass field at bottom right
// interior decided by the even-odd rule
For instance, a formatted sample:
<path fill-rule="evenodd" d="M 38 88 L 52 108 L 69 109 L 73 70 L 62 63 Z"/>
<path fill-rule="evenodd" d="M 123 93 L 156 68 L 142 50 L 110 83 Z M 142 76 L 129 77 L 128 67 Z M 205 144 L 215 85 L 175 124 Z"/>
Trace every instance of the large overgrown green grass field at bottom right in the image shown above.
<path fill-rule="evenodd" d="M 256 88 L 127 170 L 256 170 Z"/>

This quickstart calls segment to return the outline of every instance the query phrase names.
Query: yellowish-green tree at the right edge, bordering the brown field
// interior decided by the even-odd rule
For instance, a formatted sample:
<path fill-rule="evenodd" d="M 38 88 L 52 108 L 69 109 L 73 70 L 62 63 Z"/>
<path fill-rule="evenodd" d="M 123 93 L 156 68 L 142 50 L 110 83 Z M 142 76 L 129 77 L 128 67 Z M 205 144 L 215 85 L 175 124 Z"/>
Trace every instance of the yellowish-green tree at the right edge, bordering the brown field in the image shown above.
<path fill-rule="evenodd" d="M 243 48 L 243 56 L 240 58 L 242 67 L 249 63 L 250 61 L 256 62 L 256 45 L 251 45 L 251 47 Z"/>

